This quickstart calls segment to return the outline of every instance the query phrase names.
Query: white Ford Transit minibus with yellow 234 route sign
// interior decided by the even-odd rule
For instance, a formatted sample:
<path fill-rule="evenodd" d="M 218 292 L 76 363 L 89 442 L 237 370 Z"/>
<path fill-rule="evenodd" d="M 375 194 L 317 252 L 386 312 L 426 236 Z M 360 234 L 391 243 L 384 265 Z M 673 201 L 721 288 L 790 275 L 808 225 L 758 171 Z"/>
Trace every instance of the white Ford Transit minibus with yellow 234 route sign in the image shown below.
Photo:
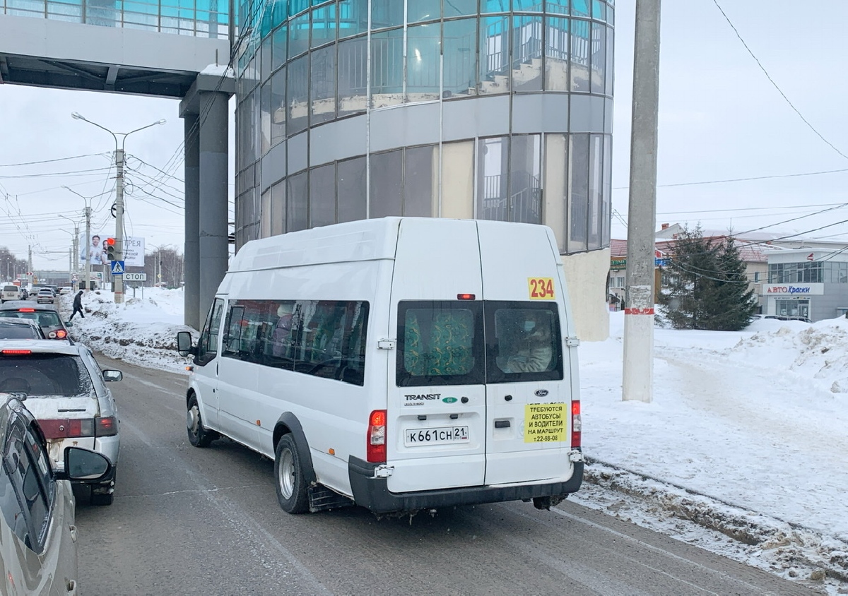
<path fill-rule="evenodd" d="M 553 231 L 360 220 L 247 242 L 193 354 L 192 445 L 275 460 L 289 513 L 533 501 L 583 481 L 577 338 Z"/>

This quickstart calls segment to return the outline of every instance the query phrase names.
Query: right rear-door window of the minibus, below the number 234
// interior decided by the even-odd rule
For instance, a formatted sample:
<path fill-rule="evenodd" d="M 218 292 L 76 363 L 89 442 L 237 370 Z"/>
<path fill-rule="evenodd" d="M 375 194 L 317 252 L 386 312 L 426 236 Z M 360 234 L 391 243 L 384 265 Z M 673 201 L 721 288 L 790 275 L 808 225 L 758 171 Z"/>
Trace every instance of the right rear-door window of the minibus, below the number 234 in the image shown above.
<path fill-rule="evenodd" d="M 487 302 L 487 382 L 562 378 L 555 303 Z"/>

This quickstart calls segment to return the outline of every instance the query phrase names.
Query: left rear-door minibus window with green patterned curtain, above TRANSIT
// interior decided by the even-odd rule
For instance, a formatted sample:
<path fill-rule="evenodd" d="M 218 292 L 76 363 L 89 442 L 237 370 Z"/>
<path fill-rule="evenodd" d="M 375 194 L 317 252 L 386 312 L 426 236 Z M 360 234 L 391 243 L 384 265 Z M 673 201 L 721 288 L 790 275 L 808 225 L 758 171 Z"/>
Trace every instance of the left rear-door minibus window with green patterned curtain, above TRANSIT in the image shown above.
<path fill-rule="evenodd" d="M 482 384 L 482 304 L 399 303 L 395 376 L 399 387 Z"/>

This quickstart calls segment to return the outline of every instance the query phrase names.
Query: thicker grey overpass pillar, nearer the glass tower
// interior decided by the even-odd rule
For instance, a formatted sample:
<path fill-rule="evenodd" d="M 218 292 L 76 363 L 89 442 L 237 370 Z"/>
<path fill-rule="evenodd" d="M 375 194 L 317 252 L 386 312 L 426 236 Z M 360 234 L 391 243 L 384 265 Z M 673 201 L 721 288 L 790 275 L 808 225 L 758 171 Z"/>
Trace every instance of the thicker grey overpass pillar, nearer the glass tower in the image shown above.
<path fill-rule="evenodd" d="M 205 315 L 224 279 L 229 257 L 227 241 L 227 114 L 228 93 L 199 92 L 200 200 L 199 262 L 200 313 Z"/>

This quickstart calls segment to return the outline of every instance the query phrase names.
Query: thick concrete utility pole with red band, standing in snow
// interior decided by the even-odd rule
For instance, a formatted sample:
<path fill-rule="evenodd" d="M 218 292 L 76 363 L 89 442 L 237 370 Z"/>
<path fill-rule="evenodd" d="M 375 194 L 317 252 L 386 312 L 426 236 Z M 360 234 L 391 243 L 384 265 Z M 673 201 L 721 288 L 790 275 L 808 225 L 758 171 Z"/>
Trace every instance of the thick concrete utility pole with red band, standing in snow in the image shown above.
<path fill-rule="evenodd" d="M 659 101 L 660 0 L 636 0 L 622 398 L 643 402 L 650 402 L 654 391 L 654 250 Z"/>

